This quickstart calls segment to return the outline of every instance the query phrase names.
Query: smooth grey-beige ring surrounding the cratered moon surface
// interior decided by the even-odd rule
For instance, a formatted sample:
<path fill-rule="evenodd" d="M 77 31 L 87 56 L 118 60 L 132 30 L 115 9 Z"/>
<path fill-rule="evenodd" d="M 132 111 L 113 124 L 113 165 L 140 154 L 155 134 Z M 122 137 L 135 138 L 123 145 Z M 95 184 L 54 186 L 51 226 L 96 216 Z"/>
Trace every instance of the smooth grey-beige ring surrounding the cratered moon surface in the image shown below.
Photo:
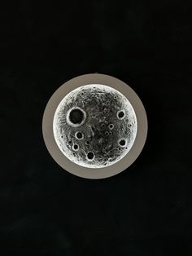
<path fill-rule="evenodd" d="M 77 87 L 89 84 L 100 84 L 119 90 L 120 93 L 122 93 L 129 100 L 137 117 L 137 135 L 133 142 L 132 148 L 130 148 L 129 152 L 122 159 L 120 159 L 120 161 L 117 161 L 111 166 L 106 166 L 103 168 L 79 166 L 73 161 L 70 161 L 68 157 L 65 157 L 63 152 L 60 151 L 59 146 L 55 141 L 53 131 L 55 111 L 64 96 L 68 95 L 69 92 Z M 146 143 L 147 130 L 148 123 L 146 110 L 135 91 L 126 83 L 120 81 L 120 79 L 100 73 L 81 75 L 72 78 L 68 82 L 65 82 L 62 86 L 55 90 L 55 93 L 50 97 L 48 103 L 46 104 L 42 118 L 42 135 L 44 142 L 46 143 L 46 148 L 50 152 L 50 156 L 53 157 L 59 166 L 61 166 L 64 170 L 86 179 L 108 178 L 119 174 L 131 166 L 142 152 L 142 148 Z"/>

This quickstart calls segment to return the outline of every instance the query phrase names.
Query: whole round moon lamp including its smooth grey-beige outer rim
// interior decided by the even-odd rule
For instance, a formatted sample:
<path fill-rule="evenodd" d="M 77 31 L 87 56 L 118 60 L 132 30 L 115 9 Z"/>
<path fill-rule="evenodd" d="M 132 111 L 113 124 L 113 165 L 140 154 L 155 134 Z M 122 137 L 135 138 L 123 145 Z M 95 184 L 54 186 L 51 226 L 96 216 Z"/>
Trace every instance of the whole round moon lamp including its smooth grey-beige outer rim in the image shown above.
<path fill-rule="evenodd" d="M 146 112 L 124 82 L 87 74 L 55 91 L 46 105 L 42 131 L 46 147 L 63 169 L 102 179 L 125 170 L 142 151 Z"/>

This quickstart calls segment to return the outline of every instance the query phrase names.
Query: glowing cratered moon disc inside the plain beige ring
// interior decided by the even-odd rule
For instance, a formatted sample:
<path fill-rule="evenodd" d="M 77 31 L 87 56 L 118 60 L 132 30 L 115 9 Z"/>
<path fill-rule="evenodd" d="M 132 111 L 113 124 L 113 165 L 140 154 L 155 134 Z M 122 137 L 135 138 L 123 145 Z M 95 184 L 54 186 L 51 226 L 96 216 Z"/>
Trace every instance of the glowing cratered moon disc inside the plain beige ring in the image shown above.
<path fill-rule="evenodd" d="M 55 111 L 55 141 L 79 166 L 103 168 L 120 161 L 132 148 L 137 117 L 120 91 L 105 85 L 80 86 Z"/>

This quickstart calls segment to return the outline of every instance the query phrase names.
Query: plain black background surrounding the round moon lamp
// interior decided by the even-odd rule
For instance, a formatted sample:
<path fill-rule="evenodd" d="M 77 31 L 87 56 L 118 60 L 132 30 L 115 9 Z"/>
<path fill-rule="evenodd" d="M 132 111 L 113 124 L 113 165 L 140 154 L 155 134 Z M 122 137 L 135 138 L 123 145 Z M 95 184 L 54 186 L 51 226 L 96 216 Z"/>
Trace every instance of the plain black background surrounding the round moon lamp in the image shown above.
<path fill-rule="evenodd" d="M 0 8 L 1 255 L 192 255 L 191 1 L 6 2 Z M 85 73 L 126 82 L 148 137 L 109 179 L 68 174 L 41 121 Z"/>

